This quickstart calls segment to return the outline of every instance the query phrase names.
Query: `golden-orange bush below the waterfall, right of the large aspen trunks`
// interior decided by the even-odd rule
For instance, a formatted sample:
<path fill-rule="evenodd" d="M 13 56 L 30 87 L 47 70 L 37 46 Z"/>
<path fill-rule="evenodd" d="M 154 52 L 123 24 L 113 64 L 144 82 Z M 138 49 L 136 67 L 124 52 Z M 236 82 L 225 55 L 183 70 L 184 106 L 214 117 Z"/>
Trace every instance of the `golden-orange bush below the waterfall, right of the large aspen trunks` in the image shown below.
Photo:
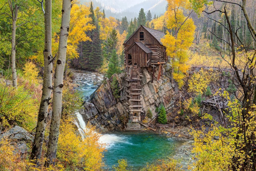
<path fill-rule="evenodd" d="M 57 158 L 64 167 L 84 168 L 84 170 L 99 170 L 104 152 L 103 144 L 99 143 L 100 134 L 93 127 L 85 130 L 82 139 L 76 133 L 76 126 L 71 119 L 62 121 L 57 149 Z"/>

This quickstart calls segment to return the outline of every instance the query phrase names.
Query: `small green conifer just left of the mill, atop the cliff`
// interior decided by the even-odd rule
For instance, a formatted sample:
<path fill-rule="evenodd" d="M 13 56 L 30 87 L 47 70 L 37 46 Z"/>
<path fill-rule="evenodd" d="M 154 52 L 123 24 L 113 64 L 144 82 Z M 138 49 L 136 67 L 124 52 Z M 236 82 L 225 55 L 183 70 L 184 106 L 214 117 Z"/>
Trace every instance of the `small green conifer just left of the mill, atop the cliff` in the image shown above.
<path fill-rule="evenodd" d="M 108 63 L 107 77 L 109 79 L 113 74 L 119 74 L 120 72 L 118 55 L 116 54 L 116 50 L 113 49 Z"/>

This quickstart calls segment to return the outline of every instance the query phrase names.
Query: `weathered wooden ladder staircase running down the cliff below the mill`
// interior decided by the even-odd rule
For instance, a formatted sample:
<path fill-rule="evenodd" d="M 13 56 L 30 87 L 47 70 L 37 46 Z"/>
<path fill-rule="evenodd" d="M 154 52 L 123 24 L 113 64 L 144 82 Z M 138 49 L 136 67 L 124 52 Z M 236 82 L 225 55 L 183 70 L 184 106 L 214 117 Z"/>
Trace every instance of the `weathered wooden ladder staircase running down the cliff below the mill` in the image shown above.
<path fill-rule="evenodd" d="M 141 68 L 136 66 L 127 68 L 127 94 L 129 98 L 129 111 L 130 111 L 130 120 L 132 122 L 139 122 L 141 121 L 141 112 L 142 112 L 142 105 L 141 105 Z"/>

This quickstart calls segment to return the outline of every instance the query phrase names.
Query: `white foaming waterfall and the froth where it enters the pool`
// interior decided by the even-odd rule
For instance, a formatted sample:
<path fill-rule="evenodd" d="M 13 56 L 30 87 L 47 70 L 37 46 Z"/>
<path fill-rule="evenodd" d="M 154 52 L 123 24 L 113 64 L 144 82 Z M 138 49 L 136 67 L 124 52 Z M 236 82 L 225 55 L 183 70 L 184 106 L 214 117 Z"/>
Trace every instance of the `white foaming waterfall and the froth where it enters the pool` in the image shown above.
<path fill-rule="evenodd" d="M 85 131 L 87 131 L 85 121 L 79 112 L 76 112 L 76 116 L 79 123 L 77 123 L 77 121 L 74 120 L 74 124 L 77 126 L 79 133 L 84 139 Z M 102 144 L 105 144 L 106 145 L 105 148 L 110 148 L 113 145 L 115 145 L 117 142 L 128 143 L 126 141 L 126 138 L 117 136 L 116 134 L 101 134 L 101 137 L 99 138 L 99 142 Z"/>

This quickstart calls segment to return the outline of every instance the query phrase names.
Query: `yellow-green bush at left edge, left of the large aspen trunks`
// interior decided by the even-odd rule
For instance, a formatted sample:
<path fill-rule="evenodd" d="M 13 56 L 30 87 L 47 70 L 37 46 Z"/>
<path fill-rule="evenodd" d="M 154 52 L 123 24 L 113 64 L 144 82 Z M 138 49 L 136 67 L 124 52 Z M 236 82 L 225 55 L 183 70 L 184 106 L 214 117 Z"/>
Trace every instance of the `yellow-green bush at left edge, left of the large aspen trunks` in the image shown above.
<path fill-rule="evenodd" d="M 18 89 L 0 82 L 0 123 L 10 127 L 16 123 L 26 130 L 35 128 L 39 100 L 31 89 L 19 85 Z"/>

